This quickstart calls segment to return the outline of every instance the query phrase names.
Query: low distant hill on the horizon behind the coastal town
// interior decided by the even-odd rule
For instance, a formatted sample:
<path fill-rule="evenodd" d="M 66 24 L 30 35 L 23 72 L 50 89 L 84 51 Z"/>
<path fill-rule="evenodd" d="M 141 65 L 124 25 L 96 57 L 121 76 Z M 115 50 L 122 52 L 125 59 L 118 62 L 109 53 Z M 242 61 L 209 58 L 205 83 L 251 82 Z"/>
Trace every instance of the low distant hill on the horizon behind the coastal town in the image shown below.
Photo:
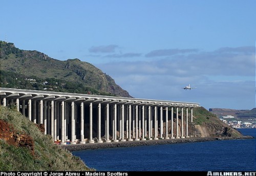
<path fill-rule="evenodd" d="M 209 108 L 209 112 L 218 116 L 233 116 L 235 118 L 256 118 L 256 108 L 249 109 L 227 109 L 227 108 Z"/>

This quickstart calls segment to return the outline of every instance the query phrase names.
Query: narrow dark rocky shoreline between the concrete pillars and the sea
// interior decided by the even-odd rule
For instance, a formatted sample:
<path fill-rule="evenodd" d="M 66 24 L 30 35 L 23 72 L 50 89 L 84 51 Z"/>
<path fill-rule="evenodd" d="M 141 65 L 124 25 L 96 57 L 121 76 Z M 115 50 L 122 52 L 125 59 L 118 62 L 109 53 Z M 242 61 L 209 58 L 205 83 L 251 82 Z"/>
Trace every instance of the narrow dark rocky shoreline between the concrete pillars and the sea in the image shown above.
<path fill-rule="evenodd" d="M 134 147 L 143 145 L 161 145 L 161 144 L 176 144 L 176 143 L 190 143 L 190 142 L 206 142 L 217 140 L 242 140 L 242 139 L 255 139 L 252 136 L 242 137 L 191 137 L 179 139 L 159 139 L 159 140 L 145 140 L 145 141 L 125 141 L 125 142 L 109 142 L 109 143 L 93 143 L 93 144 L 68 144 L 59 145 L 69 151 L 102 149 L 102 148 L 117 148 L 117 147 Z"/>

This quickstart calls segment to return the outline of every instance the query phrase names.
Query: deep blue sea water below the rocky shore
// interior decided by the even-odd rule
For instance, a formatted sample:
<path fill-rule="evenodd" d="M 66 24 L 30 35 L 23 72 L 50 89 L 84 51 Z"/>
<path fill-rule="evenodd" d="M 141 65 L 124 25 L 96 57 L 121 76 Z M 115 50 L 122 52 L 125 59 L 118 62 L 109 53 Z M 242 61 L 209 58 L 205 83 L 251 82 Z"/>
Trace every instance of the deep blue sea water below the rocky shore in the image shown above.
<path fill-rule="evenodd" d="M 256 138 L 256 128 L 238 129 Z M 256 139 L 73 151 L 97 171 L 255 171 Z"/>

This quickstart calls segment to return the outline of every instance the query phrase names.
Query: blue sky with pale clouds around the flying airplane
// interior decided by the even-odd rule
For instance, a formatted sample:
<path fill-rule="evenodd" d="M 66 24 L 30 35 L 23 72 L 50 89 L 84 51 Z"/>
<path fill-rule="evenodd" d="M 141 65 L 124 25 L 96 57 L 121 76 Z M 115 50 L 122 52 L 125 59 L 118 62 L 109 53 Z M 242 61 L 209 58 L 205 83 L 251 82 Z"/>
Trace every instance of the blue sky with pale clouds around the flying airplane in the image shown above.
<path fill-rule="evenodd" d="M 0 40 L 78 58 L 134 98 L 255 105 L 256 1 L 1 0 Z M 196 87 L 183 90 L 190 84 Z"/>

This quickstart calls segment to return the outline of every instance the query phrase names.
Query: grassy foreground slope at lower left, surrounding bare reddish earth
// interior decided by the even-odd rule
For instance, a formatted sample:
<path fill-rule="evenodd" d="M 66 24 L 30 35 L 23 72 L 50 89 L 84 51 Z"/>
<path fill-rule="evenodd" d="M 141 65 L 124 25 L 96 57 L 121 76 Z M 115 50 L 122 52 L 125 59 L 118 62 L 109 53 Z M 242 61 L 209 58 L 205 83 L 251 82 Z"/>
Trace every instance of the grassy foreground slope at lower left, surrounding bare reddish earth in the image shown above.
<path fill-rule="evenodd" d="M 33 122 L 8 107 L 0 106 L 0 119 L 34 139 L 35 156 L 25 147 L 8 145 L 0 139 L 0 170 L 2 171 L 87 171 L 79 157 L 73 156 L 52 142 L 49 135 L 42 134 Z"/>

